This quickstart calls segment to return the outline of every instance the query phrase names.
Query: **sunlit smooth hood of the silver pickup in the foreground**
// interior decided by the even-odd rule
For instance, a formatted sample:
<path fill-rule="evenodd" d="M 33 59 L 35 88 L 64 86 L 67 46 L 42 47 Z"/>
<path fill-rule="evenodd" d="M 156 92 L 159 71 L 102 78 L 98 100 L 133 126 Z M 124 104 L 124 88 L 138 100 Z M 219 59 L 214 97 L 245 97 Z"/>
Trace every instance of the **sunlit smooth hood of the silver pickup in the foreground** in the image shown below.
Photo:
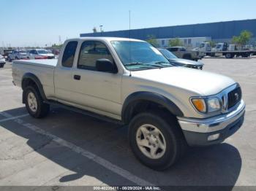
<path fill-rule="evenodd" d="M 236 83 L 233 79 L 220 74 L 176 66 L 131 71 L 131 74 L 132 77 L 189 90 L 201 96 L 217 94 Z"/>

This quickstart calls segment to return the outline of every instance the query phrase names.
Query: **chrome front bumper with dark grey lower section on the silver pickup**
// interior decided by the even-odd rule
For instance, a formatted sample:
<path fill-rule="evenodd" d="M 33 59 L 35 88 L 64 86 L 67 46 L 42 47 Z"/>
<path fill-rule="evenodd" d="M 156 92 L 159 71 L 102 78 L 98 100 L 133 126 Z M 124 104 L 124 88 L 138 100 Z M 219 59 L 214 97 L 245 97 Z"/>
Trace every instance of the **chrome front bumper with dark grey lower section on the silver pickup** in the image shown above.
<path fill-rule="evenodd" d="M 233 135 L 244 122 L 245 104 L 241 100 L 236 109 L 227 114 L 221 114 L 207 119 L 192 119 L 178 117 L 178 123 L 183 130 L 189 146 L 207 146 L 224 141 Z M 208 137 L 219 133 L 219 138 L 208 141 Z"/>

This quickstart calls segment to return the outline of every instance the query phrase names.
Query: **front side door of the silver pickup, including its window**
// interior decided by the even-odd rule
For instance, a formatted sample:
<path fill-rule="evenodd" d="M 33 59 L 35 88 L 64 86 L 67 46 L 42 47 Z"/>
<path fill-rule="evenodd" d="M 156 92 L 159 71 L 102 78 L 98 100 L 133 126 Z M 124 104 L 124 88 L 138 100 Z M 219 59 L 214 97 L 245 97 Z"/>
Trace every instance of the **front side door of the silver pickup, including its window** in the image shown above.
<path fill-rule="evenodd" d="M 81 44 L 78 62 L 72 72 L 72 102 L 87 110 L 119 119 L 121 113 L 121 72 L 97 71 L 96 61 L 108 59 L 115 63 L 104 42 Z"/>

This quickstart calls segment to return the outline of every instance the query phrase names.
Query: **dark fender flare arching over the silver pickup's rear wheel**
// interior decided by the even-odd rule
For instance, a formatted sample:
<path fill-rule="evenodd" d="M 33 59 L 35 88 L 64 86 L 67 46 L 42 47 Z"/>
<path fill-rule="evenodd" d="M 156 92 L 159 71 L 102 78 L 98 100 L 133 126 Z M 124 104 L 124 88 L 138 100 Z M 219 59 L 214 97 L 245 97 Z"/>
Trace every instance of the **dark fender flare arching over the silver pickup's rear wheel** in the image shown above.
<path fill-rule="evenodd" d="M 22 78 L 22 82 L 21 82 L 21 87 L 22 89 L 24 90 L 26 87 L 25 87 L 25 82 L 26 82 L 26 79 L 30 79 L 32 80 L 36 85 L 37 85 L 37 88 L 39 90 L 39 93 L 40 95 L 42 96 L 42 99 L 44 101 L 47 101 L 47 98 L 45 96 L 45 92 L 44 92 L 44 89 L 42 87 L 42 84 L 40 82 L 40 80 L 38 79 L 38 77 L 34 74 L 31 74 L 31 73 L 26 73 L 23 75 L 23 78 Z M 22 102 L 23 104 L 25 103 L 25 95 L 24 95 L 24 91 L 23 91 L 23 94 L 22 94 Z"/>

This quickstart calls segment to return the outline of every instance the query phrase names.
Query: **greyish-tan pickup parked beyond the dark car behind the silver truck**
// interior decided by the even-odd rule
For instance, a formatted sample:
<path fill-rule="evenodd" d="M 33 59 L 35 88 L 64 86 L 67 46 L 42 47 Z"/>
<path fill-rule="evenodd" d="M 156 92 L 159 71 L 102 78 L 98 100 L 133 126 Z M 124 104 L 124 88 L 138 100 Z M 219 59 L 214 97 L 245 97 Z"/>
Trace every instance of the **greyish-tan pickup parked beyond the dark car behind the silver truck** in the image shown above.
<path fill-rule="evenodd" d="M 183 58 L 192 61 L 198 61 L 203 58 L 202 55 L 199 54 L 199 51 L 187 50 L 185 47 L 167 47 L 167 50 L 173 52 L 178 58 Z"/>

